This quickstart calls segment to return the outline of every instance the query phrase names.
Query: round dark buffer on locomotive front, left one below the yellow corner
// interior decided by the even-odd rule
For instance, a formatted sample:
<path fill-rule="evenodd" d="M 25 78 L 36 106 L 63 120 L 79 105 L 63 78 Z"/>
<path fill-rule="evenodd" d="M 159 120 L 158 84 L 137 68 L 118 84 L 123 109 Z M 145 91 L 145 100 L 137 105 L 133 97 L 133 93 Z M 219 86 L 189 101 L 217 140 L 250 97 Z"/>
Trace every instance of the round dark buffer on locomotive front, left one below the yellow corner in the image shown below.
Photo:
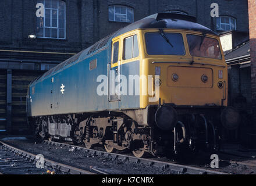
<path fill-rule="evenodd" d="M 177 123 L 177 112 L 172 106 L 161 106 L 155 113 L 155 123 L 162 130 L 173 130 Z"/>

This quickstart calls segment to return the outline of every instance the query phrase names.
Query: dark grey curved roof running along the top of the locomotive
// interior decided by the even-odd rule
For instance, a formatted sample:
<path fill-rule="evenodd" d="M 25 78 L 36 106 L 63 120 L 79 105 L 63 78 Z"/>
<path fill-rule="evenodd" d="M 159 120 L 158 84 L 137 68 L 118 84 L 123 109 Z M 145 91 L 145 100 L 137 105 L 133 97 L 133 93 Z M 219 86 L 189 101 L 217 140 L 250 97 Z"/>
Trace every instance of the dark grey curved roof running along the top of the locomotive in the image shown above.
<path fill-rule="evenodd" d="M 173 28 L 173 29 L 182 29 L 182 30 L 191 30 L 191 31 L 200 31 L 204 34 L 214 34 L 217 35 L 214 31 L 209 28 L 202 26 L 201 24 L 196 23 L 195 17 L 180 15 L 175 13 L 156 13 L 154 15 L 145 17 L 144 19 L 138 20 L 137 22 L 131 23 L 126 27 L 120 28 L 115 33 L 108 35 L 102 40 L 96 42 L 91 47 L 84 49 L 83 51 L 77 53 L 71 58 L 65 60 L 59 65 L 53 67 L 44 73 L 40 78 L 37 78 L 35 81 L 42 80 L 45 77 L 48 77 L 51 74 L 56 73 L 57 71 L 63 69 L 65 66 L 71 65 L 74 62 L 80 61 L 91 53 L 98 51 L 102 47 L 105 47 L 109 42 L 112 41 L 112 38 L 118 37 L 124 33 L 127 33 L 131 30 L 137 28 Z"/>

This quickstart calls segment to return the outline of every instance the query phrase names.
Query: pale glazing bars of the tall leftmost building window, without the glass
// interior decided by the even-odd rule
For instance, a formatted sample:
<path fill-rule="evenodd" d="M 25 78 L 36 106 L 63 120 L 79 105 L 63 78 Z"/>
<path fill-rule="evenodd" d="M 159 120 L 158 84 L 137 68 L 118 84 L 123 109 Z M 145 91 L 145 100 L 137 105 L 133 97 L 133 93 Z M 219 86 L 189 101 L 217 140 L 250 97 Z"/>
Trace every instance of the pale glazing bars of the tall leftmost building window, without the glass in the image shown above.
<path fill-rule="evenodd" d="M 37 35 L 37 38 L 47 38 L 47 39 L 55 39 L 55 40 L 66 40 L 66 1 L 55 0 L 55 1 L 57 1 L 57 8 L 45 8 L 45 0 L 42 0 L 42 1 L 43 1 L 43 4 L 44 4 L 44 17 L 43 17 L 44 25 L 43 25 L 43 27 L 37 27 L 37 28 L 43 28 L 43 36 L 38 36 Z M 59 10 L 62 10 L 62 9 L 59 9 L 59 1 L 64 2 L 64 9 L 63 9 L 64 10 L 64 28 L 59 28 Z M 51 26 L 45 26 L 45 18 L 46 18 L 45 12 L 46 12 L 47 9 L 50 10 L 50 18 L 49 19 L 50 19 L 50 25 Z M 52 10 L 56 10 L 57 11 L 56 27 L 52 27 Z M 40 19 L 41 17 L 37 17 L 37 22 L 38 22 L 38 18 Z M 51 31 L 51 37 L 45 37 L 45 28 L 50 28 L 50 29 L 55 28 L 55 29 L 57 29 L 57 37 L 52 37 L 52 31 Z M 64 30 L 64 38 L 60 38 L 59 37 L 59 30 L 60 29 Z M 38 33 L 38 31 L 37 31 L 37 33 Z"/>

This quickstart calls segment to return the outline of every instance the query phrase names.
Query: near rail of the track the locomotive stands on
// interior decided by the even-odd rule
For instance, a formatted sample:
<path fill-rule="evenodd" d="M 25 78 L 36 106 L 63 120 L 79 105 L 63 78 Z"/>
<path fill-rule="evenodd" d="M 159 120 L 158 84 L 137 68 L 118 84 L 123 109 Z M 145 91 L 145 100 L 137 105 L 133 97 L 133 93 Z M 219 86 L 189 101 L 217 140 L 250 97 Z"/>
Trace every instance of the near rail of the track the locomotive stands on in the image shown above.
<path fill-rule="evenodd" d="M 90 153 L 91 155 L 105 156 L 106 158 L 119 159 L 119 160 L 130 162 L 130 163 L 140 163 L 140 164 L 144 164 L 147 166 L 158 167 L 163 170 L 170 169 L 170 170 L 176 172 L 177 174 L 227 174 L 227 173 L 223 173 L 221 171 L 214 171 L 214 170 L 202 169 L 202 168 L 198 168 L 198 167 L 185 166 L 182 164 L 161 162 L 158 160 L 136 158 L 135 156 L 122 155 L 122 154 L 118 154 L 118 153 L 108 153 L 108 152 L 104 152 L 104 151 L 97 151 L 94 149 L 87 149 L 82 146 L 64 144 L 64 143 L 55 142 L 55 141 L 44 140 L 43 142 L 48 145 L 69 146 L 70 148 L 77 149 L 78 151 L 84 151 L 85 153 Z M 94 167 L 92 167 L 92 168 L 94 168 Z"/>

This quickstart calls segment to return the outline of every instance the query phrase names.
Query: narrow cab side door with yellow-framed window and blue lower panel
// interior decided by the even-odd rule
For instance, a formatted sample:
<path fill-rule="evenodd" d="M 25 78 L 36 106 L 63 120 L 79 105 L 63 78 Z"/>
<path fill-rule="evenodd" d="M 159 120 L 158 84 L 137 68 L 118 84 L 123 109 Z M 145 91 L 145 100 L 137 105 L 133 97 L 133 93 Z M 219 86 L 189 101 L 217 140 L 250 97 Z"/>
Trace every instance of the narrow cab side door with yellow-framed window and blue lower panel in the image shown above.
<path fill-rule="evenodd" d="M 108 101 L 120 101 L 118 78 L 120 78 L 120 41 L 112 41 L 111 63 L 108 63 Z M 116 82 L 118 81 L 118 82 Z"/>

